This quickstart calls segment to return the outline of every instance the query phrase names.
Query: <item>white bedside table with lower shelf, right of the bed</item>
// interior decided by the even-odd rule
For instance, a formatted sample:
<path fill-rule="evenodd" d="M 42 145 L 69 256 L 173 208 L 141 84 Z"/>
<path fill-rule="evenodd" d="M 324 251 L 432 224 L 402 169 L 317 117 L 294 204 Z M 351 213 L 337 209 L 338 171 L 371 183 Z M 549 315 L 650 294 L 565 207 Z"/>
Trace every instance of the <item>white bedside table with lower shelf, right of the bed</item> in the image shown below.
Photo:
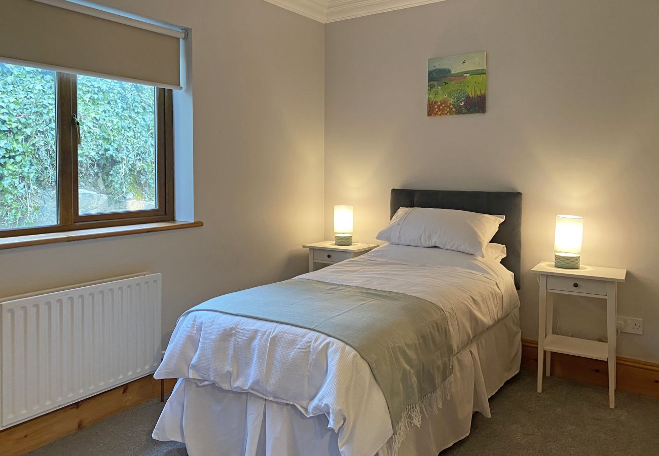
<path fill-rule="evenodd" d="M 567 355 L 608 360 L 609 407 L 616 401 L 616 319 L 617 284 L 625 281 L 627 270 L 581 266 L 579 269 L 561 269 L 552 261 L 538 263 L 531 270 L 540 274 L 540 312 L 538 318 L 538 393 L 542 393 L 542 358 L 546 351 L 545 373 L 550 375 L 552 351 Z M 608 342 L 591 341 L 577 337 L 552 334 L 554 320 L 554 294 L 588 296 L 606 299 L 606 334 Z"/>

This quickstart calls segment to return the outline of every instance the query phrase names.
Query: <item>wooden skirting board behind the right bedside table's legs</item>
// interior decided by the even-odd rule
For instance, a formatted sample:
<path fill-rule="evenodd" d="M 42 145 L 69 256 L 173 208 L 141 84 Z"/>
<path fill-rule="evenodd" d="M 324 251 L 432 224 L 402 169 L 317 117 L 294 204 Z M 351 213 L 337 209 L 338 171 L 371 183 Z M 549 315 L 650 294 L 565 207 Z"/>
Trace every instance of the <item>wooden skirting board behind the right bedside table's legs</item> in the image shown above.
<path fill-rule="evenodd" d="M 538 342 L 522 339 L 522 367 L 538 369 Z M 552 353 L 552 376 L 573 378 L 593 385 L 608 385 L 608 366 L 581 356 Z M 659 364 L 618 356 L 616 388 L 659 397 Z"/>

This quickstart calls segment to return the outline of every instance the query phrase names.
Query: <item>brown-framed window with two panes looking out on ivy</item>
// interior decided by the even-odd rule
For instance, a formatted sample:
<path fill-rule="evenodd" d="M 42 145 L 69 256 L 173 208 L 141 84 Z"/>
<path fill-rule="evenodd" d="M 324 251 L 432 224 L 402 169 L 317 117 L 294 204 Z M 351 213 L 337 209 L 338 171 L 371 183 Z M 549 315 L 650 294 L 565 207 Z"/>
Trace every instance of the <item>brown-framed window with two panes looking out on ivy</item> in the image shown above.
<path fill-rule="evenodd" d="M 0 237 L 173 220 L 171 100 L 0 63 Z"/>

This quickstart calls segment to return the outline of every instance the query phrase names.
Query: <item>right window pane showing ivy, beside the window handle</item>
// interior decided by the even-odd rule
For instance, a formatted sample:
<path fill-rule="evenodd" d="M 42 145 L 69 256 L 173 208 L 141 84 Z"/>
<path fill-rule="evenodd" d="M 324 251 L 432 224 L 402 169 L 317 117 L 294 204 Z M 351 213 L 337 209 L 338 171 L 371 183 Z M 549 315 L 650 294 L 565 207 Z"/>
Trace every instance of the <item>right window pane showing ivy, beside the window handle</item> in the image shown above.
<path fill-rule="evenodd" d="M 78 212 L 156 208 L 156 89 L 78 76 Z"/>

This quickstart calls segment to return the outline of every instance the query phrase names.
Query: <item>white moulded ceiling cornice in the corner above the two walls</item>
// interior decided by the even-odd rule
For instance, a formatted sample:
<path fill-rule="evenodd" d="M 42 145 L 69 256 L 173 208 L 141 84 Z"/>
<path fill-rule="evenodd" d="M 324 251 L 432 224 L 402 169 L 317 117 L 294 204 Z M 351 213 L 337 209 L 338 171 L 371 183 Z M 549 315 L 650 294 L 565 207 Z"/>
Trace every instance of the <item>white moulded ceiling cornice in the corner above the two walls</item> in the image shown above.
<path fill-rule="evenodd" d="M 266 0 L 323 24 L 443 0 Z"/>

